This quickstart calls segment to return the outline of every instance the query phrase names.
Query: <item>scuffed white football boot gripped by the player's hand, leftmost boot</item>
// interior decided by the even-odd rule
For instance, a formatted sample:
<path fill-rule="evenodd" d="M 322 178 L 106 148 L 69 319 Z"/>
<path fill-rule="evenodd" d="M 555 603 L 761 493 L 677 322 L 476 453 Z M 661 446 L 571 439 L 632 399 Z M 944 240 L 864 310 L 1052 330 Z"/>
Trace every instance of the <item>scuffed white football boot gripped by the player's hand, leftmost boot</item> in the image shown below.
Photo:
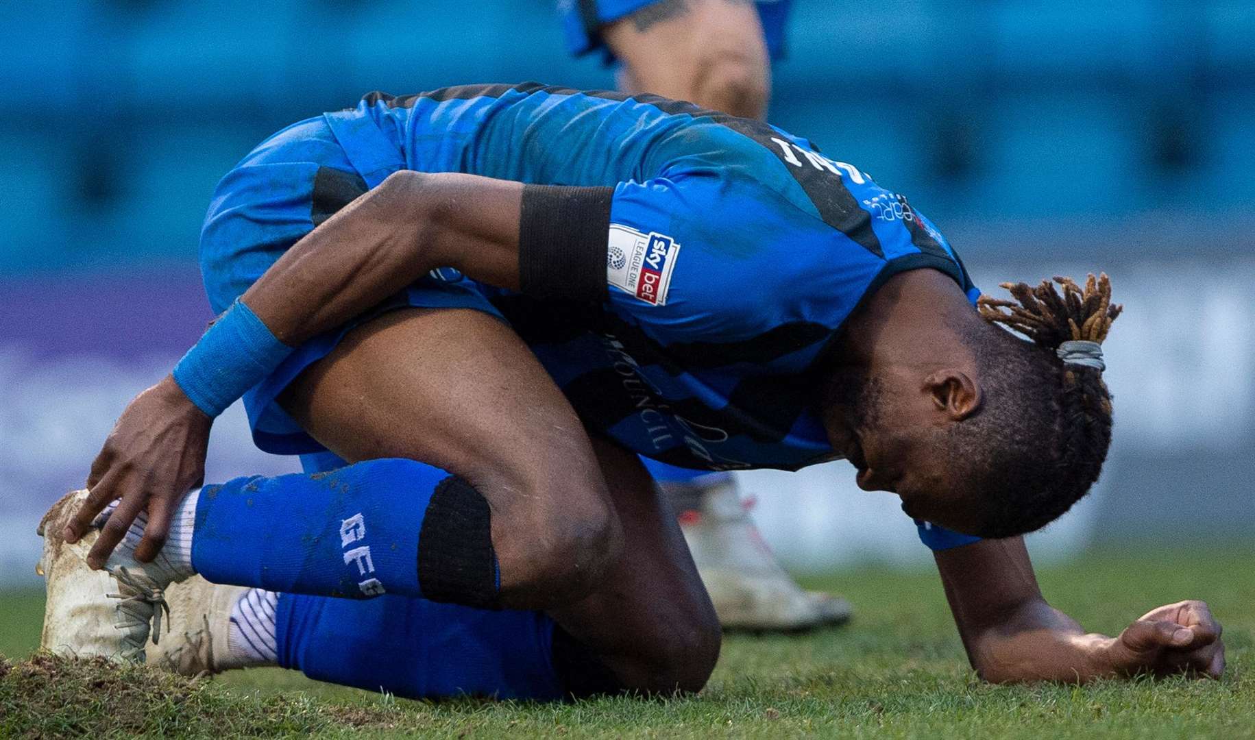
<path fill-rule="evenodd" d="M 141 563 L 119 551 L 104 568 L 88 567 L 87 554 L 99 532 L 93 529 L 73 544 L 61 537 L 84 500 L 87 490 L 65 494 L 36 529 L 44 554 L 35 569 L 48 587 L 39 645 L 58 655 L 143 662 L 144 645 L 149 636 L 158 638 L 162 616 L 169 616 L 164 588 L 172 569 L 162 556 Z"/>

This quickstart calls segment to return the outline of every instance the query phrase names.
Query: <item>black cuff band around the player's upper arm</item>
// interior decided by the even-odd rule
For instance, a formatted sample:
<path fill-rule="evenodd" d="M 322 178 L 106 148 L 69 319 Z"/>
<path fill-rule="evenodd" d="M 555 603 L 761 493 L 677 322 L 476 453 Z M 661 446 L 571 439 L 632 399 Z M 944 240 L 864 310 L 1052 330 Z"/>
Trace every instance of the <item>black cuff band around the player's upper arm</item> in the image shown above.
<path fill-rule="evenodd" d="M 606 288 L 610 187 L 523 186 L 518 283 L 543 301 L 600 302 Z"/>

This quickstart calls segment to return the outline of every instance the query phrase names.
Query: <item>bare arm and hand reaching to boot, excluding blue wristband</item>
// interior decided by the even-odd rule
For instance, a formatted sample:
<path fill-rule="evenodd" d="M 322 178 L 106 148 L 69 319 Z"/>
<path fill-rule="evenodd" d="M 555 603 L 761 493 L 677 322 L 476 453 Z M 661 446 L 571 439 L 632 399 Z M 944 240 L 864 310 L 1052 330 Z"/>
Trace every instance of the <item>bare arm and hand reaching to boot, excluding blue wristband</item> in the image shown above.
<path fill-rule="evenodd" d="M 499 287 L 518 286 L 523 186 L 461 173 L 402 171 L 300 240 L 243 293 L 274 335 L 296 346 L 435 267 Z M 172 502 L 200 485 L 212 419 L 167 376 L 127 406 L 92 465 L 87 504 L 67 539 L 82 537 L 122 499 L 92 549 L 104 564 L 139 512 L 143 562 L 166 541 Z"/>

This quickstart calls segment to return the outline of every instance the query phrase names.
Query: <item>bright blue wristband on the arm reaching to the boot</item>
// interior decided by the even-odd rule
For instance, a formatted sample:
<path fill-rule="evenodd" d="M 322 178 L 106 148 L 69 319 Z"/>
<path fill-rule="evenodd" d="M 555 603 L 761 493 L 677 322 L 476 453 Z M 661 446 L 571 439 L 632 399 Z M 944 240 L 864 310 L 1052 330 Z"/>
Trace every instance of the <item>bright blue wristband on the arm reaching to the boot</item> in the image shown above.
<path fill-rule="evenodd" d="M 236 300 L 174 365 L 174 383 L 198 409 L 217 416 L 291 354 L 292 347 Z"/>

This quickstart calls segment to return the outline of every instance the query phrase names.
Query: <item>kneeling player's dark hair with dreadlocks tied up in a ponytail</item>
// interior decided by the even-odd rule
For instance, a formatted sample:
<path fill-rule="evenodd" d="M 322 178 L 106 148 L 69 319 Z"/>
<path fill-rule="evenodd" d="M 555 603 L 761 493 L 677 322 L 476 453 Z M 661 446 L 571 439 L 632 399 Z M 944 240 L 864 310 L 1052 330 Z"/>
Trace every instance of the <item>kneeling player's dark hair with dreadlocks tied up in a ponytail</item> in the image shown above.
<path fill-rule="evenodd" d="M 969 337 L 986 403 L 971 424 L 950 431 L 949 445 L 979 492 L 980 534 L 995 538 L 1053 522 L 1098 479 L 1111 445 L 1111 393 L 1102 370 L 1065 364 L 1057 350 L 1071 340 L 1102 342 L 1122 310 L 1106 275 L 1089 275 L 1084 287 L 1068 277 L 1001 287 L 1015 300 L 981 296 L 986 326 Z"/>

